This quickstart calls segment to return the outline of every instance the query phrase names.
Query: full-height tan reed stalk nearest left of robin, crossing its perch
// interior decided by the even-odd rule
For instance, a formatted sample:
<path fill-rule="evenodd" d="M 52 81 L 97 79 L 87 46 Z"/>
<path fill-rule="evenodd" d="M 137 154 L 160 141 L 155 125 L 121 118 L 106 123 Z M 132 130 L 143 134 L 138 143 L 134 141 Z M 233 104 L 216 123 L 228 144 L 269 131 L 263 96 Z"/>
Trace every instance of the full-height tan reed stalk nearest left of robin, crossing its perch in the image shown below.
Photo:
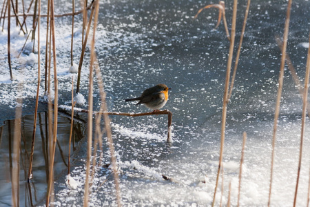
<path fill-rule="evenodd" d="M 97 8 L 99 7 L 99 0 L 96 0 L 96 3 L 94 5 L 94 11 L 95 14 L 95 18 L 98 17 L 98 11 Z M 92 21 L 92 18 L 90 18 L 90 22 Z M 89 199 L 89 177 L 90 177 L 90 159 L 92 156 L 92 110 L 93 110 L 93 92 L 94 92 L 94 88 L 93 88 L 93 84 L 94 84 L 94 80 L 93 80 L 93 69 L 94 69 L 94 43 L 95 43 L 95 33 L 96 33 L 96 21 L 94 22 L 94 28 L 93 28 L 93 36 L 92 36 L 92 43 L 91 43 L 91 50 L 90 50 L 90 81 L 89 81 L 89 92 L 88 92 L 88 110 L 90 111 L 90 113 L 88 113 L 88 119 L 87 119 L 87 161 L 86 161 L 86 179 L 85 179 L 85 191 L 84 191 L 84 204 L 83 206 L 88 206 L 88 199 Z M 90 25 L 87 28 L 90 29 Z M 85 39 L 85 43 L 86 43 L 86 39 Z M 84 50 L 85 52 L 85 50 Z"/>

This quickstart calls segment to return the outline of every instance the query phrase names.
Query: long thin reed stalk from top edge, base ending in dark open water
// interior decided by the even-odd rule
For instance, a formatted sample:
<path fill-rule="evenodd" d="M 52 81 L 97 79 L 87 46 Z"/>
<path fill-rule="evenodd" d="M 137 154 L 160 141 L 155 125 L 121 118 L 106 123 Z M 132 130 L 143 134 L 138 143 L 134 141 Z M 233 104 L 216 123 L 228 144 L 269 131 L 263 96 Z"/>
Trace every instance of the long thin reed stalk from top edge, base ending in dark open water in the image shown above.
<path fill-rule="evenodd" d="M 37 86 L 37 97 L 36 97 L 36 105 L 34 108 L 34 121 L 33 121 L 33 131 L 32 131 L 32 144 L 31 144 L 31 155 L 30 155 L 30 164 L 28 171 L 28 182 L 32 179 L 32 161 L 33 161 L 33 153 L 34 153 L 34 140 L 36 137 L 37 130 L 37 115 L 38 115 L 38 105 L 39 105 L 39 90 L 41 84 L 41 52 L 40 52 L 40 23 L 41 23 L 41 0 L 39 1 L 38 8 L 38 86 Z"/>

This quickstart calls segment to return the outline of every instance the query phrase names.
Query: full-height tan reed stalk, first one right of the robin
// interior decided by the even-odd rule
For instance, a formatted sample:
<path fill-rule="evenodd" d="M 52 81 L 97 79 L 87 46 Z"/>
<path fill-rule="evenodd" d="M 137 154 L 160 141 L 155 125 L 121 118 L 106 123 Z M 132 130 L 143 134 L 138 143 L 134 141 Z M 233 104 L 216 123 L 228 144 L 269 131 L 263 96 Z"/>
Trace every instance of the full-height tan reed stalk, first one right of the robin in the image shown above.
<path fill-rule="evenodd" d="M 220 175 L 220 168 L 222 168 L 223 154 L 224 154 L 229 79 L 230 79 L 230 72 L 231 72 L 231 61 L 232 61 L 232 57 L 234 54 L 234 43 L 235 43 L 235 35 L 236 35 L 237 3 L 238 1 L 234 0 L 234 9 L 233 9 L 233 16 L 232 16 L 232 21 L 231 21 L 231 39 L 230 39 L 229 55 L 228 55 L 228 61 L 227 61 L 225 90 L 224 90 L 224 96 L 223 96 L 222 127 L 221 127 L 221 135 L 220 135 L 220 159 L 219 159 L 219 164 L 218 164 L 218 173 L 216 176 L 216 186 L 214 188 L 214 197 L 213 197 L 212 206 L 214 206 L 214 203 L 215 203 L 216 189 L 218 187 L 218 177 Z"/>

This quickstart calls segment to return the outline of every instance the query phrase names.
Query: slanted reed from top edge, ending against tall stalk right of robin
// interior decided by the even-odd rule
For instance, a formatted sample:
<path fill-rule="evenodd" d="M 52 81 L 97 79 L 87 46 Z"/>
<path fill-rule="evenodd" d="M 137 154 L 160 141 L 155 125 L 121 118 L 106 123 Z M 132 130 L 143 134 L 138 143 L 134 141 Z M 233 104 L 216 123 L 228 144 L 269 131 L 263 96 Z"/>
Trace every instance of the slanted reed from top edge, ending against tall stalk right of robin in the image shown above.
<path fill-rule="evenodd" d="M 237 50 L 235 66 L 234 66 L 234 72 L 233 72 L 233 76 L 231 77 L 228 100 L 230 100 L 231 93 L 232 93 L 232 90 L 234 88 L 234 82 L 236 79 L 236 73 L 237 73 L 237 68 L 238 68 L 238 62 L 239 62 L 239 57 L 240 57 L 240 51 L 241 51 L 243 36 L 245 36 L 245 26 L 247 25 L 247 16 L 249 14 L 250 4 L 251 4 L 251 0 L 247 0 L 247 9 L 245 10 L 245 19 L 243 20 L 242 31 L 241 31 L 241 36 L 240 36 L 239 46 L 238 46 L 238 50 Z"/>

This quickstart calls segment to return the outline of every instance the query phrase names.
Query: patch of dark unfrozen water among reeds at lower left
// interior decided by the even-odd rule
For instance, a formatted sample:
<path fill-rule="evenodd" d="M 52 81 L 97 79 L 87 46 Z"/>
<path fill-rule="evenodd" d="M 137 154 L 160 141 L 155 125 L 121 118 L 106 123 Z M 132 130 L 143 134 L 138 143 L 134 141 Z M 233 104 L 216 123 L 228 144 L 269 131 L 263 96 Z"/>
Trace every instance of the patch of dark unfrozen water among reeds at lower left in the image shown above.
<path fill-rule="evenodd" d="M 28 169 L 31 155 L 32 132 L 33 132 L 33 115 L 26 115 L 21 119 L 21 148 L 20 165 L 19 165 L 19 205 L 20 206 L 36 206 L 37 204 L 44 203 L 46 197 L 46 189 L 48 184 L 49 175 L 49 147 L 48 130 L 46 124 L 48 123 L 48 113 L 40 112 L 37 117 L 37 130 L 34 142 L 34 159 L 31 183 L 27 182 Z M 13 155 L 13 137 L 14 137 L 14 120 L 8 120 L 5 125 L 0 128 L 0 152 L 1 152 L 1 206 L 12 205 L 12 157 Z M 68 168 L 68 148 L 69 148 L 69 135 L 70 135 L 70 119 L 63 115 L 58 118 L 58 132 L 56 142 L 56 152 L 54 159 L 54 175 L 55 180 L 59 175 L 63 175 L 64 170 Z M 76 121 L 73 128 L 74 138 L 71 144 L 72 162 L 76 157 L 76 150 L 79 148 L 81 140 L 85 137 L 85 124 Z"/>

